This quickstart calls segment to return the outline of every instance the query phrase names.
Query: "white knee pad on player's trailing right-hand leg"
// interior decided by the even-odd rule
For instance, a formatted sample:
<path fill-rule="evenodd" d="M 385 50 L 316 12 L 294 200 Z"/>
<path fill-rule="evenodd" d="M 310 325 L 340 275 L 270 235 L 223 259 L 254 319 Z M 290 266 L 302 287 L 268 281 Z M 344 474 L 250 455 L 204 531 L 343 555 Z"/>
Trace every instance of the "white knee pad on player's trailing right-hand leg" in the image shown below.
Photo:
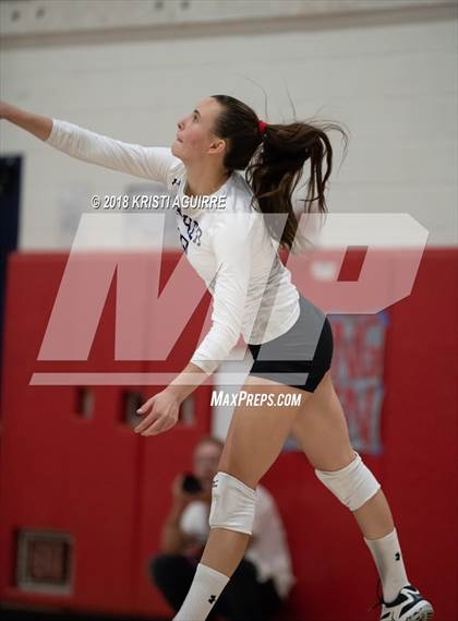
<path fill-rule="evenodd" d="M 355 458 L 340 470 L 325 473 L 315 469 L 315 475 L 350 511 L 355 511 L 372 498 L 381 483 L 361 459 L 357 451 Z"/>

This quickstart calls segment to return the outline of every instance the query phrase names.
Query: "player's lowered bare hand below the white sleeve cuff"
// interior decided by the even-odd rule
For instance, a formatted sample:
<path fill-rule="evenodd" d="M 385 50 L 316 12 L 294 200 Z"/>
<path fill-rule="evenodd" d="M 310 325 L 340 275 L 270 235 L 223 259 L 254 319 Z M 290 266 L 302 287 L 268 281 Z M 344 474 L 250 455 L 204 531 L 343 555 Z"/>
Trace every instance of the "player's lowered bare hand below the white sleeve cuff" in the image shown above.
<path fill-rule="evenodd" d="M 165 390 L 148 398 L 136 411 L 146 417 L 134 428 L 135 433 L 156 435 L 168 431 L 178 422 L 180 401 Z"/>

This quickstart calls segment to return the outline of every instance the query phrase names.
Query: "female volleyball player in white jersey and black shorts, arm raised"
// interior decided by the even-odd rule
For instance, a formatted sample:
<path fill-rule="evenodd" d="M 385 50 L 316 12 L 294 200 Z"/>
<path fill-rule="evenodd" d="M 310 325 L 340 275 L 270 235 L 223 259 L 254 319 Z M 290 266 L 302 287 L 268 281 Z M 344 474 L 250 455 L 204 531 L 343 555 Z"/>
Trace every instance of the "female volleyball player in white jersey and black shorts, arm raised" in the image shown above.
<path fill-rule="evenodd" d="M 177 208 L 183 249 L 213 295 L 213 325 L 183 372 L 140 408 L 144 419 L 135 431 L 152 435 L 173 427 L 181 402 L 215 371 L 241 332 L 254 358 L 242 389 L 253 398 L 265 392 L 301 395 L 300 406 L 234 408 L 213 482 L 210 535 L 174 621 L 207 618 L 248 546 L 257 482 L 290 433 L 361 528 L 382 582 L 381 619 L 430 620 L 431 604 L 407 577 L 386 497 L 350 444 L 330 377 L 329 321 L 298 292 L 277 254 L 278 246 L 291 249 L 294 241 L 291 193 L 309 162 L 308 202 L 316 200 L 318 211 L 326 211 L 333 159 L 326 130 L 342 131 L 339 126 L 267 124 L 242 101 L 214 95 L 180 120 L 166 148 L 123 143 L 7 104 L 0 116 L 71 156 L 161 181 L 176 196 L 226 198 L 225 213 Z M 275 213 L 285 215 L 285 228 L 268 217 Z M 191 386 L 190 373 L 197 377 Z"/>

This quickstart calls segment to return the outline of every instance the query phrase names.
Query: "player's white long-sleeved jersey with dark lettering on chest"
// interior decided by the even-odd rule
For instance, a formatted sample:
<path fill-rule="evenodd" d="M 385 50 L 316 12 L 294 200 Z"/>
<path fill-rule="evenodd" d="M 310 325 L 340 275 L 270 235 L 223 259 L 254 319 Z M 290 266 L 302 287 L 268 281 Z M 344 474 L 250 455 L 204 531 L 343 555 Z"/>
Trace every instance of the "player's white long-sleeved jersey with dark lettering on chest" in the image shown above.
<path fill-rule="evenodd" d="M 171 199 L 184 195 L 186 169 L 169 147 L 121 142 L 57 119 L 46 143 L 77 159 L 161 182 Z M 183 250 L 213 297 L 212 327 L 191 358 L 208 374 L 240 334 L 245 343 L 266 343 L 287 332 L 300 312 L 298 289 L 263 215 L 251 206 L 244 177 L 232 172 L 212 196 L 225 196 L 225 208 L 176 208 Z"/>

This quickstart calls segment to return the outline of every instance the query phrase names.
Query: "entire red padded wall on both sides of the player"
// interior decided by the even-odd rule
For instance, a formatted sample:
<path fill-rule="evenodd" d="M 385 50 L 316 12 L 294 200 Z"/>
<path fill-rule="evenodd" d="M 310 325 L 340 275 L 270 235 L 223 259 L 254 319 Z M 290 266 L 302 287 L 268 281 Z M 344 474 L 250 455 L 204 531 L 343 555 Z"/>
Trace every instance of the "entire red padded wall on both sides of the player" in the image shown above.
<path fill-rule="evenodd" d="M 177 256 L 166 258 L 165 275 Z M 122 386 L 98 386 L 95 414 L 76 414 L 74 386 L 29 386 L 37 370 L 100 370 L 113 362 L 114 287 L 88 362 L 37 362 L 67 256 L 13 254 L 9 264 L 0 479 L 0 597 L 68 608 L 170 618 L 146 563 L 157 552 L 170 483 L 188 468 L 208 431 L 209 386 L 196 391 L 196 422 L 149 438 L 122 419 Z M 387 309 L 383 452 L 362 457 L 390 502 L 410 580 L 431 598 L 437 621 L 456 618 L 457 584 L 457 287 L 456 249 L 427 250 L 411 295 Z M 204 301 L 173 356 L 186 362 Z M 196 313 L 197 314 L 197 313 Z M 193 318 L 194 320 L 194 318 Z M 193 334 L 193 337 L 191 337 Z M 178 354 L 181 351 L 181 354 Z M 125 362 L 123 370 L 152 370 Z M 130 386 L 145 397 L 153 386 Z M 197 394 L 198 393 L 198 394 Z M 316 479 L 299 453 L 284 453 L 263 479 L 280 509 L 298 584 L 285 621 L 365 621 L 376 571 L 351 513 Z M 14 529 L 71 530 L 75 593 L 25 594 L 12 584 Z M 332 593 L 332 596 L 329 595 Z"/>

